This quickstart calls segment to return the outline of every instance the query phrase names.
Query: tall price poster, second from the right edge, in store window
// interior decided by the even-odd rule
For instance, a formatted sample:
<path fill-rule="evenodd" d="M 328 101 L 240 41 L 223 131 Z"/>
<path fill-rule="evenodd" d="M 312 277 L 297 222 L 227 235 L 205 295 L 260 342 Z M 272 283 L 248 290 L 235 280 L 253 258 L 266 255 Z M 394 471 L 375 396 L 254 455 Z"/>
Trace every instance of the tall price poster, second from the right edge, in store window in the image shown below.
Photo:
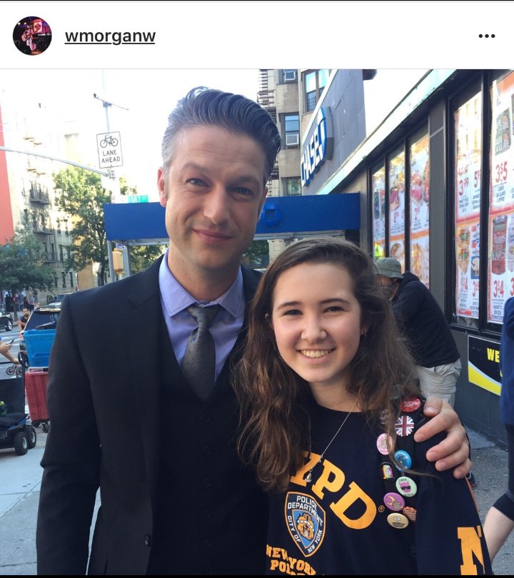
<path fill-rule="evenodd" d="M 482 96 L 475 94 L 454 113 L 455 123 L 455 308 L 478 319 L 480 296 L 480 189 Z"/>

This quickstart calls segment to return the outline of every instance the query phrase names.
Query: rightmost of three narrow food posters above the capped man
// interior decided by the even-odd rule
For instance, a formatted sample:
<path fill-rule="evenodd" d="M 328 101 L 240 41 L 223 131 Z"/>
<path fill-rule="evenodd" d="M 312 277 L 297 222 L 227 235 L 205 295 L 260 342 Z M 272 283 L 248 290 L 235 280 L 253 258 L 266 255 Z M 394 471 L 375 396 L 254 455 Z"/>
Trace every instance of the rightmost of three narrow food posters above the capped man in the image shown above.
<path fill-rule="evenodd" d="M 410 145 L 410 272 L 430 288 L 430 157 L 428 134 Z"/>

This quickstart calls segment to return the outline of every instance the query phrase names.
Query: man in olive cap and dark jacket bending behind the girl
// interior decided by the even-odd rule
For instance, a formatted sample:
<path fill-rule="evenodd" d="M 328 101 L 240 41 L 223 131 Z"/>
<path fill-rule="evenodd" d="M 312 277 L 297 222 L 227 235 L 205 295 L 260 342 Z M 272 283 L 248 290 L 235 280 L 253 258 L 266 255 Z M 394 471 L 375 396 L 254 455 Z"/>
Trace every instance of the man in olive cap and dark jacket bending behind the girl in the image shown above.
<path fill-rule="evenodd" d="M 398 260 L 378 259 L 375 268 L 415 360 L 421 392 L 453 405 L 460 355 L 438 302 L 413 273 L 402 274 Z"/>

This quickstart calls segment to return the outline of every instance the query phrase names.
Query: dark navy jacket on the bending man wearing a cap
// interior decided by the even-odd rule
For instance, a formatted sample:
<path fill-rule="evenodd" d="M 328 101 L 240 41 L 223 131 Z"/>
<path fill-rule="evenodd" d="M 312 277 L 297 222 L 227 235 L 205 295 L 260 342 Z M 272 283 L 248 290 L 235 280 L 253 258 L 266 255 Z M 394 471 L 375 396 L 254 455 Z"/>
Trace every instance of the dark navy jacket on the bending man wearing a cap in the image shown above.
<path fill-rule="evenodd" d="M 419 278 L 405 271 L 393 298 L 393 313 L 416 365 L 435 367 L 460 358 L 443 311 Z"/>

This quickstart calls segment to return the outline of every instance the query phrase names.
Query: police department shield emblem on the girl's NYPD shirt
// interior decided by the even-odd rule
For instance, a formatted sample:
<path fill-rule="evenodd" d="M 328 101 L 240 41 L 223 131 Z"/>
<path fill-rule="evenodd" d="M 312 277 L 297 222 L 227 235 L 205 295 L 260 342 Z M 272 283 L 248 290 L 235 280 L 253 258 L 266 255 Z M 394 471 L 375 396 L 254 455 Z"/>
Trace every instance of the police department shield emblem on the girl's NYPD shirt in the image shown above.
<path fill-rule="evenodd" d="M 286 495 L 286 523 L 304 556 L 312 556 L 325 534 L 325 510 L 312 496 L 300 492 Z"/>

